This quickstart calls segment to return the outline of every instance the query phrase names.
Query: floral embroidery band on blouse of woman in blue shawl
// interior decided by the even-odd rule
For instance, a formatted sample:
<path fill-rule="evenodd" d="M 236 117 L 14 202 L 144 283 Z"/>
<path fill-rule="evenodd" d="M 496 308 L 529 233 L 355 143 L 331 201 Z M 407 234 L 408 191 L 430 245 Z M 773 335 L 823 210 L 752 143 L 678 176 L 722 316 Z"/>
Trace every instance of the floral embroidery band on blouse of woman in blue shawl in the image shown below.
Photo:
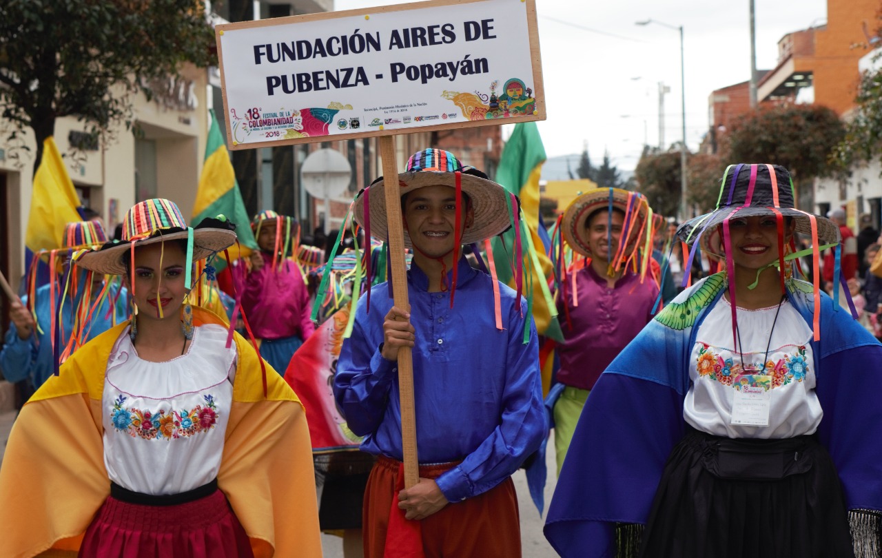
<path fill-rule="evenodd" d="M 736 390 L 740 390 L 743 385 L 771 390 L 791 382 L 802 382 L 809 371 L 805 346 L 796 347 L 795 353 L 784 354 L 777 362 L 769 359 L 765 366 L 757 363 L 745 370 L 741 362 L 734 361 L 731 355 L 724 359 L 722 354 L 714 353 L 706 343 L 699 341 L 699 345 L 695 367 L 699 378 L 731 385 Z"/>

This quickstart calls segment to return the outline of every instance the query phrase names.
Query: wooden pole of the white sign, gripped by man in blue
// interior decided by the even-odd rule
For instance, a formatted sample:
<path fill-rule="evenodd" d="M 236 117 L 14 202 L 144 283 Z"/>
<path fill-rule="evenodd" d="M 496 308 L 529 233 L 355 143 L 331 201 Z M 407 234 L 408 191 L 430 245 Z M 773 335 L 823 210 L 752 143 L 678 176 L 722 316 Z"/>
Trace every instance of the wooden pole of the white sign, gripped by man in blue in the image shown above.
<path fill-rule="evenodd" d="M 395 161 L 394 136 L 381 136 L 380 159 L 383 161 L 386 219 L 389 231 L 389 260 L 392 266 L 392 294 L 395 306 L 410 309 L 407 301 L 407 267 L 404 264 L 404 227 L 401 221 L 401 196 L 398 164 Z M 410 347 L 398 350 L 398 384 L 401 404 L 401 450 L 404 460 L 404 487 L 420 481 L 416 458 L 416 416 L 414 411 L 414 361 Z"/>

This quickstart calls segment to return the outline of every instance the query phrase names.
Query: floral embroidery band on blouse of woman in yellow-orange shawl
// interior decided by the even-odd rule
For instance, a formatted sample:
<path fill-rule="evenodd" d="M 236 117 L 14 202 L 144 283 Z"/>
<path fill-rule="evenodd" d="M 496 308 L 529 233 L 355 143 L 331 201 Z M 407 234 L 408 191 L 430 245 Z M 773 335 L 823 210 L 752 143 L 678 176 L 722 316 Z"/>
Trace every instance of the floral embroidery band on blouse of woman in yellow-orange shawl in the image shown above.
<path fill-rule="evenodd" d="M 185 438 L 207 432 L 214 428 L 218 420 L 218 410 L 214 405 L 214 396 L 202 396 L 206 405 L 196 405 L 191 410 L 172 410 L 166 414 L 162 409 L 158 414 L 135 407 L 126 407 L 124 395 L 114 401 L 110 412 L 110 421 L 114 428 L 126 432 L 132 437 L 140 436 L 145 440 L 171 440 Z"/>

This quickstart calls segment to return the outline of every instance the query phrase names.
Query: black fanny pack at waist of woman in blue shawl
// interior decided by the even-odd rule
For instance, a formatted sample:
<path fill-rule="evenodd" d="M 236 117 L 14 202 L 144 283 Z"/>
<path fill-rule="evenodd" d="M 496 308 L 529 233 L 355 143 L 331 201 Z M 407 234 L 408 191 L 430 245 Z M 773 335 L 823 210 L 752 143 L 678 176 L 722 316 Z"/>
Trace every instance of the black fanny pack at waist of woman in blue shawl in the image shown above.
<path fill-rule="evenodd" d="M 702 464 L 707 472 L 727 480 L 781 480 L 811 470 L 811 436 L 783 440 L 731 439 L 700 435 Z"/>

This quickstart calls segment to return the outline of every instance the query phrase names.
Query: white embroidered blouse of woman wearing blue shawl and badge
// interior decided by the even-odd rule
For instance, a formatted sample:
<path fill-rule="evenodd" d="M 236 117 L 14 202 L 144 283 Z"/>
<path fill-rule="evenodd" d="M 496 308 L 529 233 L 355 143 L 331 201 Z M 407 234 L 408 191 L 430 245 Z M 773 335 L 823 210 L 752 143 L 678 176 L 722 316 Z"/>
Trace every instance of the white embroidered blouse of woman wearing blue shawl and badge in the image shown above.
<path fill-rule="evenodd" d="M 777 321 L 777 305 L 757 310 L 739 308 L 742 356 L 733 350 L 731 308 L 726 297 L 721 297 L 699 326 L 689 361 L 691 386 L 684 401 L 684 419 L 692 428 L 729 438 L 812 434 L 824 412 L 815 393 L 811 328 L 789 301 L 781 304 Z M 745 371 L 742 359 L 744 367 L 754 370 Z M 744 385 L 768 392 L 768 426 L 732 424 L 736 390 Z"/>

